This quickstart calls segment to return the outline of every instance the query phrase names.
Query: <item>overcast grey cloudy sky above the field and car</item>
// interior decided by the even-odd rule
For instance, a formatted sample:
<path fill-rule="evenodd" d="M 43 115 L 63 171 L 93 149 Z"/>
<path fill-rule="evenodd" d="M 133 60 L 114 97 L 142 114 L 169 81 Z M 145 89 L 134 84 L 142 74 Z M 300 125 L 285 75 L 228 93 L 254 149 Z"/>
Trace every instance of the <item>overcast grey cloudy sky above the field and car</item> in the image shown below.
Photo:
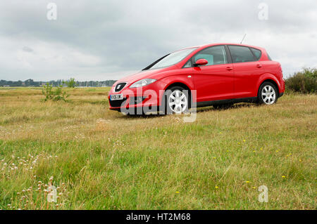
<path fill-rule="evenodd" d="M 46 18 L 49 2 L 56 20 Z M 0 79 L 119 79 L 166 53 L 239 43 L 244 33 L 285 77 L 317 67 L 316 0 L 11 0 L 0 2 Z"/>

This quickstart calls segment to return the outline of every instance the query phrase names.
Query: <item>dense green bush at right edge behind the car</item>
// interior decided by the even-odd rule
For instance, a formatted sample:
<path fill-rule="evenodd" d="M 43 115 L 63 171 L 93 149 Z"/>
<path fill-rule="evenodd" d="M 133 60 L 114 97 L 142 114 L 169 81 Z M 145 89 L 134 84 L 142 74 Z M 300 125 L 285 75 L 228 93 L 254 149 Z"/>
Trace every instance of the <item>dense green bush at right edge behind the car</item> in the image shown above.
<path fill-rule="evenodd" d="M 316 93 L 317 70 L 304 68 L 301 72 L 295 73 L 285 80 L 285 88 L 287 91 L 299 93 Z"/>

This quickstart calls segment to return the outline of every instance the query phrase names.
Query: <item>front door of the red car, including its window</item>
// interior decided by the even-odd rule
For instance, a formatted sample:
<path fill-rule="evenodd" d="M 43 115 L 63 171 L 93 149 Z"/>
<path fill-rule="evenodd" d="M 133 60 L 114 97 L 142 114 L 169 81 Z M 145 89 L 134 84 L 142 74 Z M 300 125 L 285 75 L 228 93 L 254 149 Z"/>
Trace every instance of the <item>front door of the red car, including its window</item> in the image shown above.
<path fill-rule="evenodd" d="M 201 58 L 206 59 L 208 64 L 194 67 L 197 102 L 232 98 L 234 73 L 225 46 L 204 48 L 193 56 L 192 61 Z"/>

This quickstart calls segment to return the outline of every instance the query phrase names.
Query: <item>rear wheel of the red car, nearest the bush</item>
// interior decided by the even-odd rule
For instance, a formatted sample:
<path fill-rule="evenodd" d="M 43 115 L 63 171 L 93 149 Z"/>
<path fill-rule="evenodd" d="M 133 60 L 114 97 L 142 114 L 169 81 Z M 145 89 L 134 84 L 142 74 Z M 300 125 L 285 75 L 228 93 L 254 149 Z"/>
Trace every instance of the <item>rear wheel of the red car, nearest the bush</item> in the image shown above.
<path fill-rule="evenodd" d="M 269 81 L 264 81 L 258 91 L 258 103 L 273 105 L 278 101 L 278 89 Z"/>

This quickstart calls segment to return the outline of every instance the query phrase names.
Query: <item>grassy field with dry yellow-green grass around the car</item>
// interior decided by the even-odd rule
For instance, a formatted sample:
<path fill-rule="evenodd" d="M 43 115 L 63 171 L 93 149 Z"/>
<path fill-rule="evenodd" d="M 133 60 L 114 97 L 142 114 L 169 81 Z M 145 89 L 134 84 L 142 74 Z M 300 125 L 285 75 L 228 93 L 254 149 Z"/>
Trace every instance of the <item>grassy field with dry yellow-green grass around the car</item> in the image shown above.
<path fill-rule="evenodd" d="M 316 209 L 317 95 L 184 123 L 110 111 L 108 88 L 68 92 L 0 89 L 0 209 Z"/>

